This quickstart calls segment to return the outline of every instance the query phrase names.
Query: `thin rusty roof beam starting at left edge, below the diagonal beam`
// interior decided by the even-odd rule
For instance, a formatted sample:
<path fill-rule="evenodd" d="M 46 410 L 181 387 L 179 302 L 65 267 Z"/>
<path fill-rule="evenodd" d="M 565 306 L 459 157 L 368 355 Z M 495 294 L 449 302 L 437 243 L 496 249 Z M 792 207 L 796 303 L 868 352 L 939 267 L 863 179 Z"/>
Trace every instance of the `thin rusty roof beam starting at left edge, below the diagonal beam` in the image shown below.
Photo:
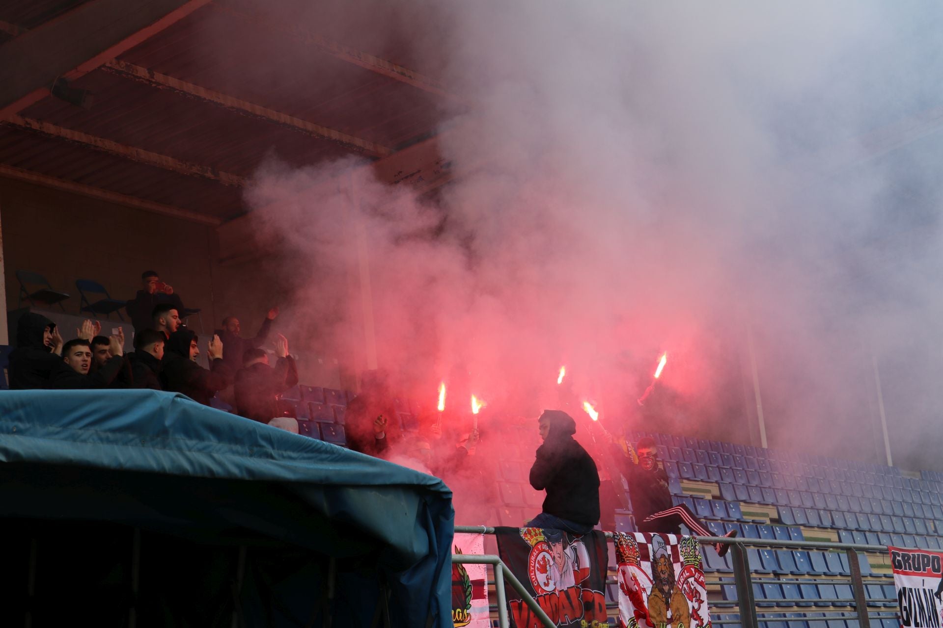
<path fill-rule="evenodd" d="M 124 157 L 125 159 L 130 159 L 131 161 L 136 161 L 141 164 L 147 164 L 148 166 L 171 170 L 179 174 L 202 177 L 211 181 L 218 181 L 223 185 L 241 186 L 246 183 L 245 178 L 236 174 L 201 166 L 200 164 L 181 161 L 170 155 L 145 151 L 135 146 L 125 146 L 124 144 L 119 144 L 105 137 L 91 136 L 81 131 L 63 128 L 51 122 L 43 122 L 12 115 L 8 117 L 6 123 L 35 131 L 44 136 L 58 137 L 78 144 L 84 144 L 85 146 L 91 146 L 105 153 L 118 155 L 119 157 Z"/>

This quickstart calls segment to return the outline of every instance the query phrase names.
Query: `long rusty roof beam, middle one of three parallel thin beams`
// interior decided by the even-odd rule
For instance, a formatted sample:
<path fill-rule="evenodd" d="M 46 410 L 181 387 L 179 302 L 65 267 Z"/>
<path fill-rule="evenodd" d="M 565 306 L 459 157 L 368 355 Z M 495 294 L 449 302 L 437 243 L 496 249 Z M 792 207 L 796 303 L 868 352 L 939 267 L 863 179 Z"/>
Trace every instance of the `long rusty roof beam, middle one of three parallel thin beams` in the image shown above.
<path fill-rule="evenodd" d="M 376 144 L 366 139 L 361 139 L 360 137 L 349 136 L 345 133 L 341 133 L 340 131 L 336 131 L 335 129 L 331 129 L 320 124 L 315 124 L 314 122 L 302 120 L 300 118 L 295 118 L 289 114 L 275 111 L 274 109 L 269 109 L 268 107 L 256 105 L 254 103 L 249 103 L 234 96 L 229 96 L 228 94 L 223 94 L 219 91 L 214 91 L 199 85 L 194 85 L 193 83 L 188 83 L 187 81 L 182 81 L 178 78 L 174 78 L 173 76 L 161 74 L 160 72 L 154 72 L 153 70 L 148 70 L 147 68 L 142 68 L 141 66 L 134 65 L 133 63 L 127 63 L 120 59 L 108 61 L 108 63 L 106 63 L 102 69 L 107 72 L 112 72 L 121 76 L 127 76 L 143 81 L 157 88 L 173 89 L 174 91 L 187 96 L 194 96 L 209 103 L 223 105 L 228 109 L 233 109 L 242 114 L 249 114 L 255 118 L 289 126 L 293 129 L 302 131 L 309 136 L 330 139 L 332 141 L 339 142 L 348 148 L 353 148 L 360 153 L 366 153 L 374 157 L 385 157 L 393 153 L 393 150 L 387 146 L 381 146 L 380 144 Z"/>

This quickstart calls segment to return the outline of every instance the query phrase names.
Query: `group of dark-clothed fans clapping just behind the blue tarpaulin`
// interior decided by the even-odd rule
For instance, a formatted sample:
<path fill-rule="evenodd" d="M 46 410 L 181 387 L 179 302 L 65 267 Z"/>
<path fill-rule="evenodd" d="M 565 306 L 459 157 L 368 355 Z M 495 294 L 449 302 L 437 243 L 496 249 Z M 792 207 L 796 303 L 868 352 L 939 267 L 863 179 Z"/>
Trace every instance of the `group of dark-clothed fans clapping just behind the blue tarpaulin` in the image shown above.
<path fill-rule="evenodd" d="M 205 405 L 227 391 L 242 416 L 268 423 L 280 414 L 277 395 L 298 383 L 288 340 L 276 334 L 274 367 L 258 348 L 268 339 L 277 308 L 269 311 L 255 338 L 240 336 L 234 316 L 223 319 L 223 328 L 207 342 L 205 368 L 196 362 L 199 337 L 184 324 L 183 302 L 174 288 L 150 270 L 141 282 L 142 289 L 125 305 L 135 332 L 135 350 L 127 354 L 120 327 L 105 336 L 100 323 L 86 320 L 74 340 L 63 342 L 52 320 L 35 312 L 23 314 L 9 356 L 10 389 L 149 388 L 182 393 Z"/>

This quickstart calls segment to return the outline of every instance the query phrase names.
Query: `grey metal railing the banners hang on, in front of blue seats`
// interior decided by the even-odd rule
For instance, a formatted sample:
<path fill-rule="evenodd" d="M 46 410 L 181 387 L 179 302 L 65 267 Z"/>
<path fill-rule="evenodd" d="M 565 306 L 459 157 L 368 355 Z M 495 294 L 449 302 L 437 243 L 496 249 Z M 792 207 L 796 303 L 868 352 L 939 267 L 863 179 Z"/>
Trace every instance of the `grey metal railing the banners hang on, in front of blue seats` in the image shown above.
<path fill-rule="evenodd" d="M 466 534 L 494 534 L 494 528 L 486 525 L 456 525 L 456 533 L 466 533 Z M 611 540 L 612 533 L 606 532 L 605 538 Z M 799 549 L 799 550 L 827 550 L 827 551 L 840 551 L 844 552 L 848 556 L 848 568 L 849 575 L 851 576 L 851 585 L 852 585 L 852 600 L 835 600 L 835 604 L 841 604 L 845 602 L 850 602 L 849 606 L 853 605 L 855 609 L 855 614 L 859 626 L 864 628 L 865 626 L 870 625 L 870 615 L 868 610 L 868 596 L 865 593 L 864 580 L 861 574 L 861 564 L 859 561 L 859 552 L 875 552 L 879 554 L 885 554 L 887 548 L 884 545 L 865 545 L 859 543 L 835 543 L 829 541 L 814 541 L 814 540 L 776 540 L 776 539 L 743 539 L 743 538 L 728 538 L 728 537 L 695 537 L 702 545 L 713 545 L 715 543 L 724 543 L 730 545 L 730 555 L 732 556 L 733 563 L 733 578 L 734 585 L 736 587 L 736 606 L 739 613 L 739 620 L 720 620 L 713 621 L 712 623 L 739 623 L 742 626 L 750 626 L 751 628 L 759 628 L 759 623 L 765 623 L 767 621 L 795 621 L 795 620 L 807 620 L 809 618 L 760 618 L 759 614 L 756 611 L 756 602 L 753 596 L 753 572 L 750 568 L 750 557 L 747 552 L 747 549 L 752 547 L 757 548 L 785 548 L 785 549 Z M 507 583 L 514 588 L 521 595 L 521 599 L 524 604 L 527 604 L 531 610 L 534 611 L 534 614 L 538 619 L 543 623 L 546 628 L 555 628 L 555 624 L 547 616 L 543 609 L 540 608 L 537 601 L 533 596 L 528 593 L 527 589 L 521 585 L 521 581 L 507 569 L 505 563 L 501 560 L 500 556 L 486 555 L 486 556 L 475 556 L 469 554 L 459 554 L 452 556 L 453 563 L 465 563 L 465 564 L 486 564 L 491 565 L 494 570 L 494 588 L 495 596 L 497 597 L 497 610 L 498 610 L 498 623 L 501 628 L 508 628 L 508 618 L 507 618 L 507 599 L 505 595 L 505 580 Z M 729 577 L 729 576 L 728 576 Z M 777 579 L 777 582 L 780 580 Z M 808 580 L 792 580 L 791 584 L 804 584 L 809 582 Z M 833 580 L 832 583 L 837 581 Z M 724 601 L 729 603 L 732 601 Z M 794 603 L 793 600 L 764 600 L 765 603 Z M 822 602 L 833 602 L 831 600 L 818 600 L 819 603 Z M 880 612 L 880 611 L 879 611 Z M 812 618 L 816 619 L 816 618 Z M 824 618 L 822 618 L 824 619 Z M 875 618 L 877 619 L 877 618 Z"/>

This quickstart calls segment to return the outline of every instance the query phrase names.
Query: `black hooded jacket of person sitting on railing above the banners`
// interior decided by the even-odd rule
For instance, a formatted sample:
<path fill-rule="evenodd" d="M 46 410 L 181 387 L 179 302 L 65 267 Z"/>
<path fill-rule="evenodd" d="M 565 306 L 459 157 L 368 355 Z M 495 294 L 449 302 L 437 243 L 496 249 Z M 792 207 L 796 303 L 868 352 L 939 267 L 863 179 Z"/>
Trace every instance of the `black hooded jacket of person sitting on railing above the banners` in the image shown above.
<path fill-rule="evenodd" d="M 538 447 L 530 483 L 547 491 L 543 511 L 573 523 L 599 523 L 599 472 L 587 450 L 573 440 L 576 422 L 558 410 L 545 410 L 540 418 L 550 421 L 550 431 Z"/>

